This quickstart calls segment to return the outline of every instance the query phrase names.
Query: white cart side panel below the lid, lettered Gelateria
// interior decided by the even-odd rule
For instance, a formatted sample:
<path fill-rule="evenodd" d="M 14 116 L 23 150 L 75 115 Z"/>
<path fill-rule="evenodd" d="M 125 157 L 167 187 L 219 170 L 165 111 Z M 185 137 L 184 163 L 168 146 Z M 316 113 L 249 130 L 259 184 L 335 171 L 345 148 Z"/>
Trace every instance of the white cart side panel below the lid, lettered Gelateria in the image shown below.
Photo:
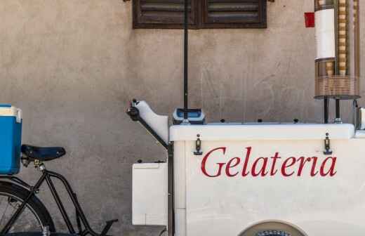
<path fill-rule="evenodd" d="M 186 235 L 236 236 L 270 220 L 307 235 L 364 235 L 364 147 L 364 139 L 331 140 L 324 155 L 323 140 L 203 140 L 197 156 L 187 141 Z"/>

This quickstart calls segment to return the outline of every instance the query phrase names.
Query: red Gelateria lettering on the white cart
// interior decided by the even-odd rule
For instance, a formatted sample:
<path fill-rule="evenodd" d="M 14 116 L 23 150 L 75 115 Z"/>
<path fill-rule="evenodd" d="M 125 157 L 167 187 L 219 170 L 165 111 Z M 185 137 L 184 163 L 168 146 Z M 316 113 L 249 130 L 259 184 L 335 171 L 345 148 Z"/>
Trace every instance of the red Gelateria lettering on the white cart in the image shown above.
<path fill-rule="evenodd" d="M 218 147 L 209 151 L 203 157 L 201 171 L 205 176 L 216 178 L 225 175 L 233 178 L 236 176 L 265 177 L 280 174 L 284 177 L 300 177 L 308 174 L 312 177 L 333 177 L 337 173 L 337 157 L 327 157 L 321 162 L 319 157 L 282 158 L 279 152 L 275 152 L 270 158 L 251 158 L 252 147 L 246 147 L 246 157 L 232 157 L 227 159 L 225 157 L 226 150 L 227 147 Z M 227 159 L 227 162 L 223 162 L 222 160 L 224 159 Z"/>

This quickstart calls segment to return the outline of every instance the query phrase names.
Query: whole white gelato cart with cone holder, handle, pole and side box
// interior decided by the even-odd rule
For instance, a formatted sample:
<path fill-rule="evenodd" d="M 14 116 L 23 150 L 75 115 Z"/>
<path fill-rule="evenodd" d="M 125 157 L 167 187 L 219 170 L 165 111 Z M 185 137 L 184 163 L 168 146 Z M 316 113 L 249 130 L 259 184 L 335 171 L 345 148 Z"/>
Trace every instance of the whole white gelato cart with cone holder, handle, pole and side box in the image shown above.
<path fill-rule="evenodd" d="M 133 165 L 133 224 L 166 225 L 169 236 L 365 235 L 359 1 L 314 4 L 324 123 L 206 124 L 187 109 L 185 64 L 185 106 L 172 126 L 144 101 L 128 110 L 168 150 L 166 162 Z M 353 124 L 340 120 L 343 99 L 354 100 Z"/>

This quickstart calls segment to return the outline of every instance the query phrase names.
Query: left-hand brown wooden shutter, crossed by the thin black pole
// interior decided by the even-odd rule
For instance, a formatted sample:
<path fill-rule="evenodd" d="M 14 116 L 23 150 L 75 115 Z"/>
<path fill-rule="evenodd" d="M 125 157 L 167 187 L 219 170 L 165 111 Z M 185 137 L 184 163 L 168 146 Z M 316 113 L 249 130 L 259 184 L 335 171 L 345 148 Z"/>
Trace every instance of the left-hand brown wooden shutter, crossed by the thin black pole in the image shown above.
<path fill-rule="evenodd" d="M 189 0 L 189 20 L 193 28 L 197 27 L 196 3 L 199 1 Z M 180 29 L 183 27 L 183 17 L 183 0 L 133 0 L 133 28 Z"/>

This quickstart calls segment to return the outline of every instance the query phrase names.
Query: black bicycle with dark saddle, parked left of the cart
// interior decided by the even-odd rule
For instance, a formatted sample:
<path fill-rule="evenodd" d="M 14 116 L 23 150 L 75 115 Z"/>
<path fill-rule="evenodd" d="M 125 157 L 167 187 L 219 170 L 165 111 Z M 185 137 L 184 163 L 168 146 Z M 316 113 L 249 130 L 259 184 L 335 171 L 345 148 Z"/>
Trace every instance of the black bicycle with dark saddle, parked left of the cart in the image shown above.
<path fill-rule="evenodd" d="M 107 221 L 102 232 L 95 232 L 81 209 L 77 195 L 72 190 L 67 179 L 59 173 L 48 171 L 44 162 L 60 158 L 66 155 L 63 147 L 35 147 L 32 145 L 22 145 L 22 165 L 27 167 L 29 164 L 34 164 L 34 167 L 40 171 L 41 177 L 34 186 L 29 185 L 17 176 L 1 175 L 0 176 L 0 235 L 5 235 L 10 232 L 55 232 L 51 214 L 49 214 L 46 206 L 41 200 L 36 197 L 39 193 L 39 188 L 44 182 L 47 183 L 51 190 L 53 199 L 60 210 L 63 220 L 67 225 L 69 234 L 72 235 L 92 235 L 106 236 L 107 232 L 112 227 L 112 224 L 118 220 Z M 77 230 L 74 229 L 72 222 L 62 204 L 52 178 L 56 178 L 62 182 L 67 190 L 67 193 L 72 200 L 76 211 Z M 4 201 L 5 200 L 5 201 Z M 3 206 L 5 203 L 5 206 Z M 10 208 L 9 208 L 10 207 Z M 8 211 L 11 209 L 11 211 Z M 7 214 L 8 213 L 8 214 Z M 4 222 L 4 224 L 3 224 Z"/>

